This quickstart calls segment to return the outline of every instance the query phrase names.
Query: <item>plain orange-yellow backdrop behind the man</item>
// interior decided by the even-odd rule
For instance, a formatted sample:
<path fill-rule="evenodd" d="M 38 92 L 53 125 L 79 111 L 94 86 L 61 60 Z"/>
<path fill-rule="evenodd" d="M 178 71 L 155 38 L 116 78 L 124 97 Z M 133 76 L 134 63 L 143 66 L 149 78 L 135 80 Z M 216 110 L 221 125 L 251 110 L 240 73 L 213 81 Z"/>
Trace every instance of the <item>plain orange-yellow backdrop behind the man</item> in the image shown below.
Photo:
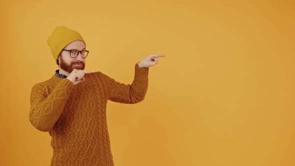
<path fill-rule="evenodd" d="M 28 111 L 57 68 L 56 25 L 84 36 L 87 70 L 120 82 L 166 54 L 144 101 L 108 102 L 115 165 L 295 165 L 294 16 L 293 0 L 2 0 L 0 165 L 50 162 Z"/>

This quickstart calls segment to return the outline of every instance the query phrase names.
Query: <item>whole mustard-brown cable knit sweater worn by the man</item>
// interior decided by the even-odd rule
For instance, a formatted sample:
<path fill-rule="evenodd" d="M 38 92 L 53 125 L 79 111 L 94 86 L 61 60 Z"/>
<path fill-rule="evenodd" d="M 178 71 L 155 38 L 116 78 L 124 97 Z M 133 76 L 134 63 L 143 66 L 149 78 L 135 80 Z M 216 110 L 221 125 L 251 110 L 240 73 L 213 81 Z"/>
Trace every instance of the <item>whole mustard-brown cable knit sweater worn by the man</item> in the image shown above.
<path fill-rule="evenodd" d="M 148 68 L 135 65 L 131 84 L 116 82 L 101 72 L 85 75 L 73 85 L 53 75 L 32 87 L 29 120 L 51 135 L 51 165 L 112 166 L 106 123 L 106 103 L 137 103 L 147 90 Z"/>

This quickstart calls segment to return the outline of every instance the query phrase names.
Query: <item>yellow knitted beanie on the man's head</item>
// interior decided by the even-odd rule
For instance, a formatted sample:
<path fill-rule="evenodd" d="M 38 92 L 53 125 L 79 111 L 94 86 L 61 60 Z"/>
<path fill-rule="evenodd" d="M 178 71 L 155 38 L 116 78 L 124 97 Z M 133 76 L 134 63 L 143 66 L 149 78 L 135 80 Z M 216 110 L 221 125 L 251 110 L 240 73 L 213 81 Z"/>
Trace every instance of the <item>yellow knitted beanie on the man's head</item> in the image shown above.
<path fill-rule="evenodd" d="M 50 47 L 55 62 L 57 61 L 61 49 L 75 40 L 82 40 L 85 43 L 83 37 L 77 31 L 65 26 L 56 26 L 51 35 L 47 38 L 47 44 Z"/>

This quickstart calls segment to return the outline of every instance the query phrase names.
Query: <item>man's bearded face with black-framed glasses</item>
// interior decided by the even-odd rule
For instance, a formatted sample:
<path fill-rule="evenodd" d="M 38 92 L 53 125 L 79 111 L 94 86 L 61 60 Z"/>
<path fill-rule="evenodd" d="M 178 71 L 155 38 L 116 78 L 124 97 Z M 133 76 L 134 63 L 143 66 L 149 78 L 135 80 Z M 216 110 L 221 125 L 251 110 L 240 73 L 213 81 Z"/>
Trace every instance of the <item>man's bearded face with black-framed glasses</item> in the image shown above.
<path fill-rule="evenodd" d="M 77 49 L 83 50 L 85 49 L 85 44 L 81 40 L 75 40 L 69 44 L 67 44 L 63 49 Z M 85 58 L 82 58 L 79 53 L 77 57 L 70 57 L 69 51 L 61 51 L 58 56 L 59 68 L 63 69 L 70 73 L 73 69 L 84 69 L 85 67 Z"/>

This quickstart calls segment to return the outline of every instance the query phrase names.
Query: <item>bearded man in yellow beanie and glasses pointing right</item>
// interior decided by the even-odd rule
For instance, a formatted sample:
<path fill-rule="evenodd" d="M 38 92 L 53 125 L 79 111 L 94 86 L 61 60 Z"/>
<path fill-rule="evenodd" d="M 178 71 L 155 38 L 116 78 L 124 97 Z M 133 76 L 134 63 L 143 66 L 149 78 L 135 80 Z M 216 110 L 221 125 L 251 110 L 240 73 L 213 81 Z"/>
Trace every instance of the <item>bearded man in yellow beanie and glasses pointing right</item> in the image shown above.
<path fill-rule="evenodd" d="M 47 44 L 59 70 L 32 87 L 29 120 L 52 137 L 51 165 L 113 165 L 106 102 L 142 101 L 148 67 L 164 55 L 150 54 L 136 63 L 134 80 L 126 85 L 101 72 L 84 70 L 89 51 L 78 32 L 57 26 Z"/>

